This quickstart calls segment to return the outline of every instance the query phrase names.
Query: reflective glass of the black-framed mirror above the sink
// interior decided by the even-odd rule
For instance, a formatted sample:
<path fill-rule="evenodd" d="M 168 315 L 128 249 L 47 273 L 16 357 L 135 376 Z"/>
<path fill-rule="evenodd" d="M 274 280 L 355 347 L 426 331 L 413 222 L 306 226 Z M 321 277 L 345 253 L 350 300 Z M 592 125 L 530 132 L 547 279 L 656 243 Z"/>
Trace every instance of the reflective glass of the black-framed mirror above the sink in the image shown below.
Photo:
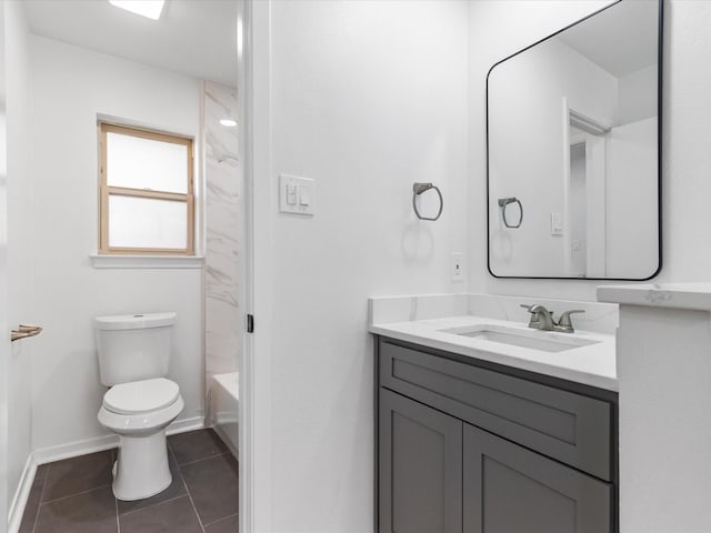
<path fill-rule="evenodd" d="M 619 1 L 491 69 L 493 275 L 657 273 L 659 17 L 657 0 Z"/>

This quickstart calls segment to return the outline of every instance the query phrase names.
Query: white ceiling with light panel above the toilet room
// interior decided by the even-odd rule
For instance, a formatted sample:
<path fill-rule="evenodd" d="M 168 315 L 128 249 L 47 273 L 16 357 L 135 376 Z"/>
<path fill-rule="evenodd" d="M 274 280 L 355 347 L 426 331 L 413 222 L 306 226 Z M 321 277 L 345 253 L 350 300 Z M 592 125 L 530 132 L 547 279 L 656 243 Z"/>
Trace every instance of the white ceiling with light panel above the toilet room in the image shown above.
<path fill-rule="evenodd" d="M 108 0 L 24 0 L 32 33 L 237 87 L 237 0 L 168 0 L 150 20 Z"/>

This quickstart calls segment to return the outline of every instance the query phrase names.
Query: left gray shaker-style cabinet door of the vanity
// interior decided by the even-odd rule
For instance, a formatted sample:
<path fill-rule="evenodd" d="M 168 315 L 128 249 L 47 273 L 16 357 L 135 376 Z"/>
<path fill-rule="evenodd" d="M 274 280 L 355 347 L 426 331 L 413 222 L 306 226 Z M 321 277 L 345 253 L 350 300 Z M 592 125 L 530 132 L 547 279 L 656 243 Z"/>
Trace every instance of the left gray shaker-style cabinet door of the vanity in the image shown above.
<path fill-rule="evenodd" d="M 379 411 L 381 533 L 461 533 L 462 422 L 384 389 Z"/>

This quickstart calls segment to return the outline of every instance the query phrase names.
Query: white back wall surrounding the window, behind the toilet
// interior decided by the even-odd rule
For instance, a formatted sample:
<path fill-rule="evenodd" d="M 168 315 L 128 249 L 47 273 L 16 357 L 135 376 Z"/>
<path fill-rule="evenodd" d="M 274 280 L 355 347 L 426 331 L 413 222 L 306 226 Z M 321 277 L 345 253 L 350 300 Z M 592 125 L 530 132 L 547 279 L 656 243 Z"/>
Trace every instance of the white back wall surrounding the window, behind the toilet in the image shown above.
<path fill-rule="evenodd" d="M 92 318 L 176 311 L 171 376 L 186 409 L 203 412 L 202 272 L 99 270 L 97 114 L 198 137 L 200 82 L 182 74 L 32 37 L 30 224 L 26 298 L 44 332 L 33 340 L 32 445 L 104 435 Z M 30 320 L 30 319 L 28 319 Z"/>

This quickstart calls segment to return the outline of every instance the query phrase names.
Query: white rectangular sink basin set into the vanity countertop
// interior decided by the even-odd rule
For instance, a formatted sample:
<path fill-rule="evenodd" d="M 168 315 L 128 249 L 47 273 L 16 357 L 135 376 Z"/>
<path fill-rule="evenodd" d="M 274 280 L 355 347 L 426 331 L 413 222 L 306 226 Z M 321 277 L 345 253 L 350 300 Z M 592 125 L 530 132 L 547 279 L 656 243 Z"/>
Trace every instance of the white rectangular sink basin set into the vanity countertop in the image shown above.
<path fill-rule="evenodd" d="M 503 325 L 480 324 L 469 328 L 452 328 L 439 330 L 442 333 L 469 336 L 481 341 L 497 342 L 510 346 L 528 348 L 542 352 L 563 352 L 574 348 L 588 346 L 599 341 L 582 339 L 574 333 L 558 333 L 553 331 L 520 330 Z"/>

